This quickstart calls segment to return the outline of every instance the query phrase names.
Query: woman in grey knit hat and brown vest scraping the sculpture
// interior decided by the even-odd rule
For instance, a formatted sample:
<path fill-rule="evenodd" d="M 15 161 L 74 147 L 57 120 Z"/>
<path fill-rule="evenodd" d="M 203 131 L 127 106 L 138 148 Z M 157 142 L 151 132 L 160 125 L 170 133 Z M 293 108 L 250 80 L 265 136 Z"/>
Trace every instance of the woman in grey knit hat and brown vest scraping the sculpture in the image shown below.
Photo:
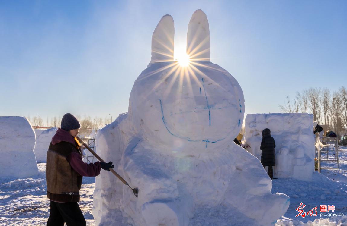
<path fill-rule="evenodd" d="M 46 183 L 50 199 L 47 226 L 85 226 L 86 221 L 78 206 L 82 177 L 96 177 L 100 170 L 113 168 L 112 162 L 87 164 L 82 160 L 81 144 L 76 139 L 80 128 L 78 120 L 67 113 L 61 128 L 52 137 L 47 151 Z"/>

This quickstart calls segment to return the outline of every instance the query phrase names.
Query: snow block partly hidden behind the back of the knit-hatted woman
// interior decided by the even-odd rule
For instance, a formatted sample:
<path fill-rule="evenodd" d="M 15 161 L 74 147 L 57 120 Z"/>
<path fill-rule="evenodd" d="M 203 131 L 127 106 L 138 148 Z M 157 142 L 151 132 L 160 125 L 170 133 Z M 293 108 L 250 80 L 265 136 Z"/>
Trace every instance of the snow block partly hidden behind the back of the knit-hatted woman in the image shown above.
<path fill-rule="evenodd" d="M 58 128 L 53 127 L 46 130 L 35 129 L 36 144 L 34 148 L 34 153 L 36 156 L 36 161 L 38 163 L 46 162 L 46 154 L 49 144 L 52 141 L 52 137 L 57 133 Z"/>

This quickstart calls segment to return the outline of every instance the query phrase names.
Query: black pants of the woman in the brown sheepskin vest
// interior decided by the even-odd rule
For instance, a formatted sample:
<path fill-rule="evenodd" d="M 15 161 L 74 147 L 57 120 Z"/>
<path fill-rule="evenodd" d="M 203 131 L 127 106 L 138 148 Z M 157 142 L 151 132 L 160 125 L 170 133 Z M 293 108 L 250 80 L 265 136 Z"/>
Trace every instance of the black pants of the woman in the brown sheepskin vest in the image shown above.
<path fill-rule="evenodd" d="M 77 202 L 58 203 L 51 201 L 47 226 L 85 226 L 86 220 Z"/>

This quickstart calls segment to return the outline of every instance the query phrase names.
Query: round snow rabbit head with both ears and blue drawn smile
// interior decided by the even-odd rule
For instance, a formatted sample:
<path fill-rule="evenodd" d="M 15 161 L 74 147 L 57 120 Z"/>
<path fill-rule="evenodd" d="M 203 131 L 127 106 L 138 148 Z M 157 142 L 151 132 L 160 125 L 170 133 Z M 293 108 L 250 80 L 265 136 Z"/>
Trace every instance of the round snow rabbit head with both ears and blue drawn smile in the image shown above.
<path fill-rule="evenodd" d="M 174 23 L 164 16 L 152 37 L 152 60 L 130 94 L 129 113 L 145 139 L 182 151 L 232 142 L 244 116 L 238 82 L 210 62 L 209 24 L 195 11 L 188 26 L 190 63 L 173 60 Z"/>

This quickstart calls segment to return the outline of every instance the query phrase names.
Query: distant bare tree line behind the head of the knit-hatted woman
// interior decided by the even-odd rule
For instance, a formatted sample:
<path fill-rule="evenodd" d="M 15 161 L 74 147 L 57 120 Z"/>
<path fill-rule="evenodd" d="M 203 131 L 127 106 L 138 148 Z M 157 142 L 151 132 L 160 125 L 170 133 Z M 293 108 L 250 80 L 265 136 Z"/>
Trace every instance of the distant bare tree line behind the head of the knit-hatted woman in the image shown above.
<path fill-rule="evenodd" d="M 52 118 L 46 117 L 46 120 L 44 121 L 43 118 L 39 115 L 30 117 L 28 116 L 27 119 L 30 121 L 31 125 L 33 127 L 60 127 L 61 124 L 61 118 L 62 116 L 54 116 Z M 79 123 L 81 124 L 81 128 L 79 129 L 80 134 L 90 134 L 92 130 L 99 130 L 102 127 L 104 127 L 107 124 L 111 123 L 110 117 L 94 117 L 91 116 L 84 116 L 81 117 L 80 115 L 76 115 L 76 118 L 78 119 Z"/>

